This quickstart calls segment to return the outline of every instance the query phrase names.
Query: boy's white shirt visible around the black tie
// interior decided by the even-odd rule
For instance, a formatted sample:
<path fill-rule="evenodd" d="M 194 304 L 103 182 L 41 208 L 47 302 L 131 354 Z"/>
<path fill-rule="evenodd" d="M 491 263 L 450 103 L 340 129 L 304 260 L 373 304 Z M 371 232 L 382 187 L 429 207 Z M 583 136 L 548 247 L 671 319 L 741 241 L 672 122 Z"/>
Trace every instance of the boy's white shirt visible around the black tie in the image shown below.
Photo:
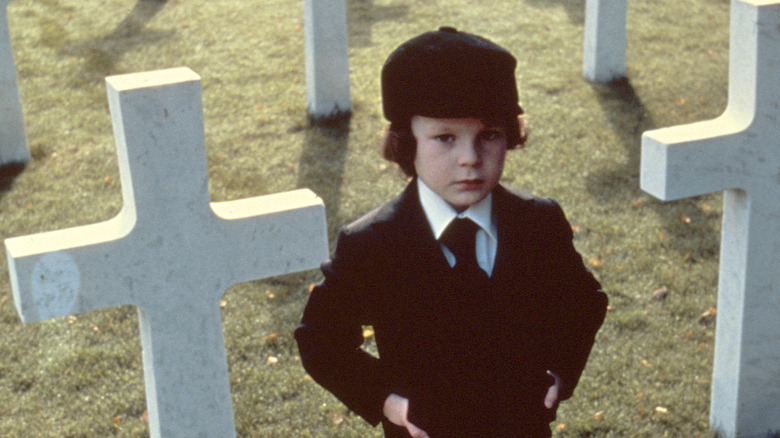
<path fill-rule="evenodd" d="M 436 240 L 439 240 L 447 225 L 456 217 L 469 218 L 479 225 L 476 237 L 477 263 L 490 276 L 493 273 L 498 248 L 498 231 L 492 214 L 493 194 L 487 195 L 479 203 L 458 213 L 419 178 L 417 178 L 417 188 L 420 193 L 420 203 Z M 444 245 L 441 245 L 441 249 L 450 267 L 455 266 L 455 255 Z"/>

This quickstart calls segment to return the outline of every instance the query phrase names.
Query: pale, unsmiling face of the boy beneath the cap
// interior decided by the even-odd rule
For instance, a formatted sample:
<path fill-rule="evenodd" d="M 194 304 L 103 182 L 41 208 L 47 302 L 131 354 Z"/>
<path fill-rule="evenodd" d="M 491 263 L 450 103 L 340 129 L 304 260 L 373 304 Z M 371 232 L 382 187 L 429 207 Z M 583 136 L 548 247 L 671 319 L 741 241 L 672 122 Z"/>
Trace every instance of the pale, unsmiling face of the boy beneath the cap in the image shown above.
<path fill-rule="evenodd" d="M 417 176 L 456 210 L 479 203 L 504 171 L 506 128 L 477 118 L 412 117 Z"/>

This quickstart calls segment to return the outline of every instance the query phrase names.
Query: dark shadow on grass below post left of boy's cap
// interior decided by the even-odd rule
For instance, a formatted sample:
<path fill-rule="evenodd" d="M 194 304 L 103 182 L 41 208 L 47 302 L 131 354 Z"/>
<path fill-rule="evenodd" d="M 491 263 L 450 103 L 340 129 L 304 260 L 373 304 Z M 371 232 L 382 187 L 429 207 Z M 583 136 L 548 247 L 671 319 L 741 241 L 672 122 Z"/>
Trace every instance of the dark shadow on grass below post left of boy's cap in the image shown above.
<path fill-rule="evenodd" d="M 342 220 L 341 186 L 347 157 L 350 114 L 306 128 L 303 152 L 298 162 L 299 188 L 309 188 L 325 202 L 328 239 L 336 238 Z"/>

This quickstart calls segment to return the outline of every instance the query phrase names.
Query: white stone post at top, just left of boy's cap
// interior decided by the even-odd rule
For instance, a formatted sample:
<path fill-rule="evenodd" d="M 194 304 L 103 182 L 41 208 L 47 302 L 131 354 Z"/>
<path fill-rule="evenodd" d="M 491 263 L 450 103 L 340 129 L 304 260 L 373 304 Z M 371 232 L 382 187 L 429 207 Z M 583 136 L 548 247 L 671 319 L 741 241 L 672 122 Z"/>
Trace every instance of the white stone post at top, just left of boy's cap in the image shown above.
<path fill-rule="evenodd" d="M 304 0 L 306 87 L 316 122 L 352 112 L 344 0 Z"/>

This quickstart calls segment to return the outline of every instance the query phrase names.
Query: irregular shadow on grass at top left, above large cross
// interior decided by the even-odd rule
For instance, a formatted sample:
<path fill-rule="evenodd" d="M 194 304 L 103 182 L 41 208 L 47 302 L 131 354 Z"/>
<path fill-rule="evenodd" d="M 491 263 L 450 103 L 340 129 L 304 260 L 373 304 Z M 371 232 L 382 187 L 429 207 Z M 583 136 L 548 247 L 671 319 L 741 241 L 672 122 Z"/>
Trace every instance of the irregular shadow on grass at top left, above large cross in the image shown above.
<path fill-rule="evenodd" d="M 60 52 L 84 59 L 83 74 L 74 80 L 75 86 L 102 83 L 106 76 L 116 74 L 116 63 L 135 46 L 150 45 L 170 38 L 175 31 L 149 31 L 145 27 L 163 7 L 165 0 L 138 0 L 130 13 L 109 34 L 89 41 L 66 44 Z"/>

